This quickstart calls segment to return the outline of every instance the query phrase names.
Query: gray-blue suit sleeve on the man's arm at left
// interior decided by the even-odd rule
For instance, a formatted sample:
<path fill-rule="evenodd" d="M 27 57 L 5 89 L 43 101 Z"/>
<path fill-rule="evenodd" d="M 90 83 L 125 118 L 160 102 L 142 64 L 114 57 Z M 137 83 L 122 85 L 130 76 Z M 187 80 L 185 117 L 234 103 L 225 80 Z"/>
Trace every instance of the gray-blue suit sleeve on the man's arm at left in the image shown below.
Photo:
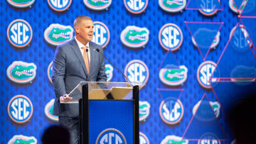
<path fill-rule="evenodd" d="M 56 98 L 59 99 L 60 96 L 66 94 L 65 92 L 65 52 L 63 48 L 58 46 L 55 51 L 53 58 L 53 87 L 55 91 Z"/>

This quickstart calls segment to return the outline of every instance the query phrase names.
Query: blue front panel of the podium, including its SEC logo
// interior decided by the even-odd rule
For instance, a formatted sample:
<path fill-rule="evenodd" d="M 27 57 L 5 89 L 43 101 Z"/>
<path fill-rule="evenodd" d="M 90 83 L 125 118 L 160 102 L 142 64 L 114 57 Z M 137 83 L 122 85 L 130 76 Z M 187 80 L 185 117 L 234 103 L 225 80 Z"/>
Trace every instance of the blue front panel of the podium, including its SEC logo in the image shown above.
<path fill-rule="evenodd" d="M 90 100 L 89 143 L 133 143 L 133 101 Z"/>

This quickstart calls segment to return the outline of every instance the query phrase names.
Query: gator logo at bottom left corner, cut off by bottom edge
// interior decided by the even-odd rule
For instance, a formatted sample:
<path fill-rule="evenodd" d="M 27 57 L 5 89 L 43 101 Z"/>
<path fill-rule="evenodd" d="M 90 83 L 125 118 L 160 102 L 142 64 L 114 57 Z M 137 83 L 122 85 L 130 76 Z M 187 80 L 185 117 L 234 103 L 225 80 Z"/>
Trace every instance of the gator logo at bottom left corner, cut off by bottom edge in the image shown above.
<path fill-rule="evenodd" d="M 25 135 L 14 135 L 11 140 L 8 141 L 8 144 L 36 144 L 37 140 L 33 136 Z"/>

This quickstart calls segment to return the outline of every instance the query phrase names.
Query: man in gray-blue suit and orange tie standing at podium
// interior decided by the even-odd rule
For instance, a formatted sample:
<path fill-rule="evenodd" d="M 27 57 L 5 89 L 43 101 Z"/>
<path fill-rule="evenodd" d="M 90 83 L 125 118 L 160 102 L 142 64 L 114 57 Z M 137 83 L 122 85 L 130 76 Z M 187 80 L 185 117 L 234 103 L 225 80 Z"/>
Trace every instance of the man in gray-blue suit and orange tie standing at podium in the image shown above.
<path fill-rule="evenodd" d="M 71 143 L 78 143 L 78 104 L 60 104 L 78 99 L 68 94 L 80 82 L 106 82 L 105 60 L 100 45 L 91 42 L 93 22 L 88 16 L 78 16 L 74 21 L 75 38 L 59 45 L 53 59 L 53 86 L 55 103 L 53 114 L 59 116 L 60 126 L 70 130 Z M 100 52 L 97 52 L 97 49 Z M 65 135 L 63 135 L 65 136 Z"/>

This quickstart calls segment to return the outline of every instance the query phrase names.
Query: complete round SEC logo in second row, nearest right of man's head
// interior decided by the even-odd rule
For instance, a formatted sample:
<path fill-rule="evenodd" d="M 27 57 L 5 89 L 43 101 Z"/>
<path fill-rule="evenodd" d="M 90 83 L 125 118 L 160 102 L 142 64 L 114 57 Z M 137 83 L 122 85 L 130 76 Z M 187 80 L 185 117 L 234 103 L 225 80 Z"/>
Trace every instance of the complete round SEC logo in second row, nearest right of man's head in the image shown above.
<path fill-rule="evenodd" d="M 159 31 L 159 42 L 165 50 L 178 50 L 183 42 L 181 28 L 174 23 L 165 24 Z"/>

